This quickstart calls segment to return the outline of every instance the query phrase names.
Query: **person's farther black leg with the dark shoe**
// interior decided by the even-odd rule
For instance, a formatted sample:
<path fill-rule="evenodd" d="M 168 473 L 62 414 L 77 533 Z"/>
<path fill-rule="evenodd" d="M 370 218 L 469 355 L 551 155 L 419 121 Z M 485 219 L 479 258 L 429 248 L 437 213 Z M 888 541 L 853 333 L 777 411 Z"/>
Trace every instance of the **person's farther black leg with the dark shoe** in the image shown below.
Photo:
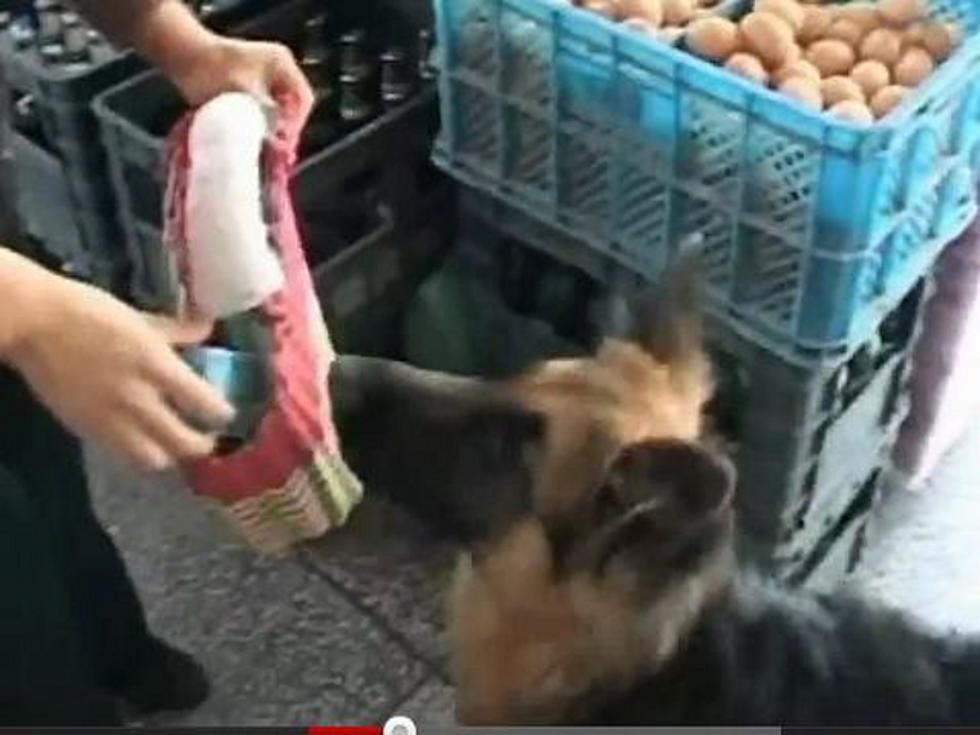
<path fill-rule="evenodd" d="M 122 557 L 92 507 L 79 442 L 9 372 L 0 372 L 0 415 L 0 462 L 20 478 L 46 526 L 100 683 L 140 709 L 200 704 L 207 696 L 200 667 L 147 628 Z"/>

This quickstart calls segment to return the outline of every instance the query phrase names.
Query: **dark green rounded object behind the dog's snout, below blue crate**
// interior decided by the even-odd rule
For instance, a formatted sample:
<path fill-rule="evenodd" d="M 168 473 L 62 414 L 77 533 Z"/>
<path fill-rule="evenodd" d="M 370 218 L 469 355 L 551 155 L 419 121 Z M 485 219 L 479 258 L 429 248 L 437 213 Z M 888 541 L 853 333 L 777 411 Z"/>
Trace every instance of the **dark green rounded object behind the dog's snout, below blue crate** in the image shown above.
<path fill-rule="evenodd" d="M 405 355 L 430 370 L 502 377 L 542 359 L 581 354 L 544 323 L 512 313 L 458 258 L 419 289 L 405 320 Z"/>

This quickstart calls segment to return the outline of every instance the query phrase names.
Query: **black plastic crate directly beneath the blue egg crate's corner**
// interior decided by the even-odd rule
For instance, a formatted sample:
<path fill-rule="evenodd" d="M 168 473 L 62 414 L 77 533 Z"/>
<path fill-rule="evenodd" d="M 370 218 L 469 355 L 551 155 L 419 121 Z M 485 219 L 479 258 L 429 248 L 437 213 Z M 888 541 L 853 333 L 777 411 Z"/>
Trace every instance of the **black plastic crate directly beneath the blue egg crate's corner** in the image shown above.
<path fill-rule="evenodd" d="M 732 441 L 740 523 L 752 555 L 787 570 L 805 563 L 887 464 L 908 408 L 924 289 L 886 320 L 888 339 L 811 371 L 715 325 L 719 392 L 712 415 Z"/>

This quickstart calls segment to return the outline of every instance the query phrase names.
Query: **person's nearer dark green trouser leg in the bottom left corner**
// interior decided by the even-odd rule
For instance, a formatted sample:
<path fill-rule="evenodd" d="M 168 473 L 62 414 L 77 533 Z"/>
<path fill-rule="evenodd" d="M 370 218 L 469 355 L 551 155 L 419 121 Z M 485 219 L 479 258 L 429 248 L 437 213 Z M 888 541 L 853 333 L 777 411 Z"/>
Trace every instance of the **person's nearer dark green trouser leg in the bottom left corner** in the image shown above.
<path fill-rule="evenodd" d="M 47 541 L 37 508 L 0 467 L 0 726 L 120 724 Z"/>

